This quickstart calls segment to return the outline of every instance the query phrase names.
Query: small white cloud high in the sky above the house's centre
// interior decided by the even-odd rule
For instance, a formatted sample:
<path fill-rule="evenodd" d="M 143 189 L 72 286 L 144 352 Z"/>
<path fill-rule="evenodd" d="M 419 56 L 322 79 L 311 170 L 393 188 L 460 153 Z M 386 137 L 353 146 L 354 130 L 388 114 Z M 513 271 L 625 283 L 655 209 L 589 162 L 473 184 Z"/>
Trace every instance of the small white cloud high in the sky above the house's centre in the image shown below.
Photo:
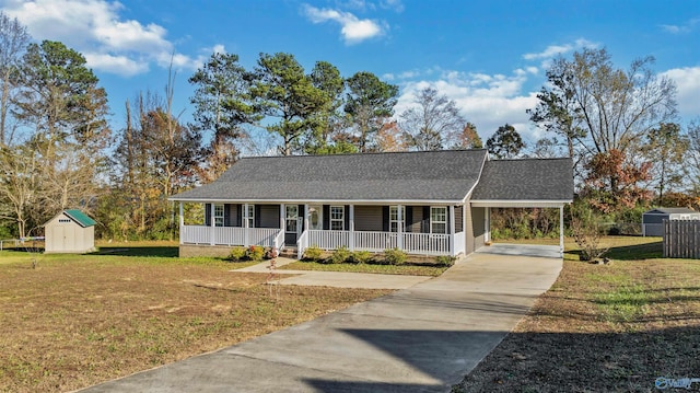
<path fill-rule="evenodd" d="M 369 19 L 360 20 L 350 12 L 342 12 L 330 9 L 317 9 L 304 4 L 304 14 L 313 23 L 324 23 L 327 21 L 340 24 L 340 34 L 346 44 L 357 44 L 362 41 L 384 34 L 386 25 Z"/>

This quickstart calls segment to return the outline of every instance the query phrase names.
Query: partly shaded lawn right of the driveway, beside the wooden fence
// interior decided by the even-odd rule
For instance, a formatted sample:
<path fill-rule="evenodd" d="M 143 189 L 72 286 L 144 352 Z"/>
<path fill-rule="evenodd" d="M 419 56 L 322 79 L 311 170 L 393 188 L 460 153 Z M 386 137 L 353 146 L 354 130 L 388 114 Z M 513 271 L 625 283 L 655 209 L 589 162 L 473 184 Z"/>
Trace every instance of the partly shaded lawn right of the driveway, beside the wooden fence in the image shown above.
<path fill-rule="evenodd" d="M 453 392 L 652 392 L 657 378 L 700 378 L 700 261 L 649 257 L 658 239 L 605 241 L 610 265 L 565 259 Z"/>

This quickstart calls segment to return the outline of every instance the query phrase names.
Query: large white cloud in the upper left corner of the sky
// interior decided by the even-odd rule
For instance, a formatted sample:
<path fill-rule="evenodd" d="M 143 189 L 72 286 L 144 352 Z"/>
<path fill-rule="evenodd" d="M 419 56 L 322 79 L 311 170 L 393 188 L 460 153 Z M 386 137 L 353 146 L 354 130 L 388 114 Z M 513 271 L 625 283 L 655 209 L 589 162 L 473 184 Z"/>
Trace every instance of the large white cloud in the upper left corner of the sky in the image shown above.
<path fill-rule="evenodd" d="M 25 24 L 36 39 L 60 41 L 85 56 L 88 66 L 104 72 L 133 76 L 150 62 L 196 67 L 197 59 L 177 54 L 158 24 L 121 20 L 124 5 L 106 0 L 2 1 L 3 11 Z"/>

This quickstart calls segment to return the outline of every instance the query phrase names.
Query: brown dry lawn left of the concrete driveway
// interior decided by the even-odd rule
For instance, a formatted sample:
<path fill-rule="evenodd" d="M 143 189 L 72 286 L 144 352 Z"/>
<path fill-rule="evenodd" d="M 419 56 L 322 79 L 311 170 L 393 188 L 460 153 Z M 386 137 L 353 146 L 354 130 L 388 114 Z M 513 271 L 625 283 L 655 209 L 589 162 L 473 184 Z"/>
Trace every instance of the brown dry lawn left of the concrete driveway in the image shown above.
<path fill-rule="evenodd" d="M 0 263 L 0 391 L 59 392 L 222 348 L 389 291 L 280 288 L 217 259 L 30 256 Z"/>

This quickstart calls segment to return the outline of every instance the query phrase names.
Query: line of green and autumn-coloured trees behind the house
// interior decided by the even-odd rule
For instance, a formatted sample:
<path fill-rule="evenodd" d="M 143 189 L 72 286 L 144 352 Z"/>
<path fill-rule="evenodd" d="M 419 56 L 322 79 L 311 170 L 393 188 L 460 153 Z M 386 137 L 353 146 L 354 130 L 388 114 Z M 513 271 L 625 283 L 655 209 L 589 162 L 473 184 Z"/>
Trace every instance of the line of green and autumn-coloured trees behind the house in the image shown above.
<path fill-rule="evenodd" d="M 528 111 L 547 138 L 526 147 L 509 124 L 486 148 L 495 159 L 574 159 L 580 198 L 604 213 L 698 205 L 700 127 L 675 122 L 675 86 L 653 59 L 614 67 L 605 49 L 559 58 Z M 40 234 L 66 208 L 88 211 L 108 239 L 173 239 L 167 198 L 220 176 L 242 153 L 335 154 L 482 148 L 457 104 L 432 88 L 395 113 L 399 89 L 368 71 L 343 77 L 327 61 L 305 70 L 291 54 L 260 54 L 246 69 L 215 53 L 191 76 L 191 120 L 163 92 L 139 91 L 107 122 L 107 94 L 84 57 L 33 43 L 0 12 L 0 236 Z M 259 130 L 267 137 L 256 137 Z M 691 186 L 686 182 L 691 178 Z M 187 211 L 201 215 L 199 209 Z M 549 222 L 538 218 L 537 222 Z"/>

